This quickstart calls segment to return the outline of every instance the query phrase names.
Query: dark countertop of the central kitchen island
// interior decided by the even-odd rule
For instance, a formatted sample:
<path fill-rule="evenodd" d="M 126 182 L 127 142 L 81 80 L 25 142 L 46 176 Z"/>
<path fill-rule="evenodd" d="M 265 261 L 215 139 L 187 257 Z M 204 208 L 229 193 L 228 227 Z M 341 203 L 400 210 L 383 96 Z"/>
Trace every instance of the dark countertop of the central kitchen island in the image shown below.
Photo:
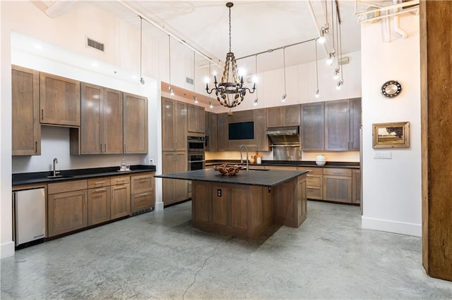
<path fill-rule="evenodd" d="M 210 169 L 155 175 L 155 177 L 273 187 L 305 173 L 307 173 L 307 171 L 250 169 L 249 173 L 246 173 L 246 170 L 240 170 L 237 175 L 223 176 L 217 171 Z"/>

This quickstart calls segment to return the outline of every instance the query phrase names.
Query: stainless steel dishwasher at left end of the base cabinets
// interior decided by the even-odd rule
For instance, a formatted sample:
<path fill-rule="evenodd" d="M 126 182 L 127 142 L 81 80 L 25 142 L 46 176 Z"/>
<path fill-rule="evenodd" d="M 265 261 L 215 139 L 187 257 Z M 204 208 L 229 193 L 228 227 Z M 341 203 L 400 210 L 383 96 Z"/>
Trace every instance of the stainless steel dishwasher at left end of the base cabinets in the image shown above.
<path fill-rule="evenodd" d="M 44 241 L 44 188 L 13 192 L 13 232 L 17 246 Z M 33 243 L 33 244 L 34 244 Z"/>

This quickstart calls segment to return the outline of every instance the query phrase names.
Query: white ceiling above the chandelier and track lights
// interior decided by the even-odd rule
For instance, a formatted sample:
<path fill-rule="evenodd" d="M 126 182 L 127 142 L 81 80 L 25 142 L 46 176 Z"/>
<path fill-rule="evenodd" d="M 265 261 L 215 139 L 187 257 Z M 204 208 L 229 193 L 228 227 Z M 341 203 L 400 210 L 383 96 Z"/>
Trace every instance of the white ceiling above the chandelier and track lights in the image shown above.
<path fill-rule="evenodd" d="M 227 1 L 96 1 L 100 6 L 139 30 L 140 19 L 152 20 L 173 35 L 184 40 L 213 61 L 225 61 L 229 50 L 229 19 Z M 355 11 L 355 1 L 338 0 L 341 20 L 342 52 L 360 50 L 360 25 Z M 331 20 L 331 6 L 335 0 L 302 1 L 234 1 L 231 8 L 232 52 L 236 58 L 275 49 L 319 37 L 319 28 L 326 23 L 326 8 L 330 33 L 325 47 L 319 45 L 319 59 L 327 58 L 333 51 L 332 27 L 335 39 L 338 27 Z M 312 7 L 312 10 L 311 8 Z M 314 20 L 313 14 L 316 21 Z M 154 27 L 143 21 L 146 27 Z M 154 27 L 155 28 L 155 27 Z M 339 47 L 335 46 L 336 53 Z M 315 44 L 307 42 L 285 49 L 285 65 L 315 61 Z M 198 60 L 199 61 L 199 60 Z M 247 58 L 254 68 L 255 58 Z M 201 62 L 201 61 L 200 61 Z M 239 64 L 241 61 L 238 62 Z M 283 68 L 283 50 L 258 55 L 258 70 Z"/>

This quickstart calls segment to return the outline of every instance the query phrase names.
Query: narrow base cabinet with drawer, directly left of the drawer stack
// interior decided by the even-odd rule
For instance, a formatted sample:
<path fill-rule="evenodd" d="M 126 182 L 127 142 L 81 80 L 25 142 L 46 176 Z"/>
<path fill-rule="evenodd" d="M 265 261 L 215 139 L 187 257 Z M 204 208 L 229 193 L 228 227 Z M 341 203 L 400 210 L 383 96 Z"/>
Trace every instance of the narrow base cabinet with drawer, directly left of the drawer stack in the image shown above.
<path fill-rule="evenodd" d="M 130 177 L 115 176 L 111 178 L 111 217 L 112 220 L 130 215 Z"/>

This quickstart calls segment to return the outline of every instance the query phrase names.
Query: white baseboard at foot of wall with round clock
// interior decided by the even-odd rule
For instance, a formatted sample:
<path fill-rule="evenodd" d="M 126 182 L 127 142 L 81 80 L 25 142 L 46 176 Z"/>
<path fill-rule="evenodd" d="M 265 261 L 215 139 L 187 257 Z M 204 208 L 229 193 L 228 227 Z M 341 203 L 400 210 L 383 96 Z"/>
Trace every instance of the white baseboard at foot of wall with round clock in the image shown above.
<path fill-rule="evenodd" d="M 399 233 L 400 235 L 413 235 L 422 237 L 422 225 L 391 220 L 361 217 L 361 226 L 366 229 Z"/>

